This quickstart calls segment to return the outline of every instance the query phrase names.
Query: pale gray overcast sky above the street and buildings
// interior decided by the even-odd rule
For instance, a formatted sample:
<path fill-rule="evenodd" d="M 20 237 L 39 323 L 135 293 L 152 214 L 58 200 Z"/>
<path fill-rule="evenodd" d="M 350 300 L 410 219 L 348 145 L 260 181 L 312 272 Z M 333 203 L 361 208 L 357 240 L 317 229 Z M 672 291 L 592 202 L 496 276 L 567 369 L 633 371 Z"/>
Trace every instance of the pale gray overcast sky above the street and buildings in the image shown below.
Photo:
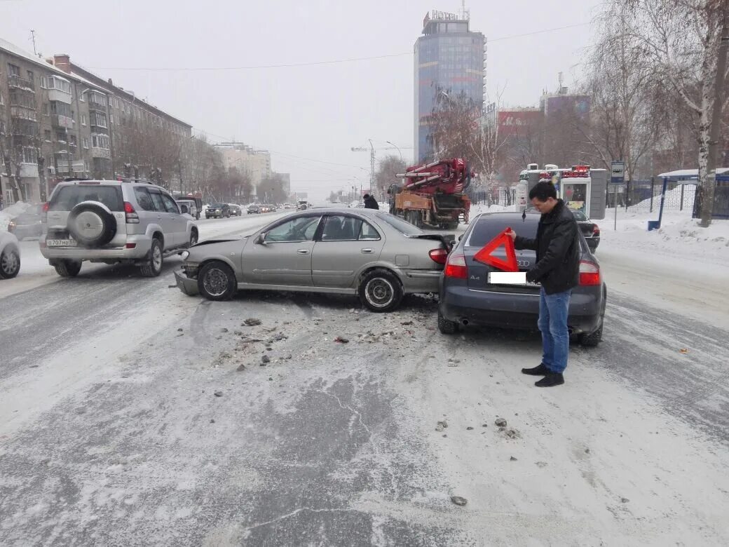
<path fill-rule="evenodd" d="M 588 23 L 598 4 L 467 3 L 472 30 L 489 40 L 491 97 L 505 86 L 504 104 L 537 104 L 543 89 L 555 90 L 559 71 L 570 85 L 593 41 L 590 26 L 523 34 Z M 406 159 L 412 155 L 413 44 L 426 12 L 460 7 L 458 0 L 3 0 L 0 36 L 32 51 L 33 28 L 45 56 L 69 53 L 80 66 L 205 131 L 211 141 L 235 137 L 270 150 L 273 169 L 290 172 L 293 188 L 324 197 L 368 181 L 369 154 L 350 151 L 366 146 L 368 138 L 375 147 L 394 142 Z M 521 37 L 499 40 L 515 35 Z M 377 55 L 397 56 L 270 69 L 122 70 Z"/>

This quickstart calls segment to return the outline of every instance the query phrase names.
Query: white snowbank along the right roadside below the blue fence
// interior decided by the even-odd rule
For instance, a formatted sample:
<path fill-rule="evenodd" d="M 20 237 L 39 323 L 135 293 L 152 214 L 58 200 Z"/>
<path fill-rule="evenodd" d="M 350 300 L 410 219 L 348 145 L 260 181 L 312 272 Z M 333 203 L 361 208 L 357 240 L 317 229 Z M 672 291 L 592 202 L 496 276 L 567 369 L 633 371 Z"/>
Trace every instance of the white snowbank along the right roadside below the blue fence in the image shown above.
<path fill-rule="evenodd" d="M 680 188 L 678 189 L 680 192 Z M 692 206 L 682 212 L 663 212 L 659 230 L 648 231 L 648 221 L 658 220 L 658 212 L 625 213 L 618 209 L 617 230 L 613 229 L 614 209 L 599 221 L 601 247 L 631 249 L 644 255 L 674 255 L 686 260 L 729 263 L 729 220 L 713 220 L 701 228 L 691 218 Z M 598 249 L 598 255 L 599 255 Z"/>

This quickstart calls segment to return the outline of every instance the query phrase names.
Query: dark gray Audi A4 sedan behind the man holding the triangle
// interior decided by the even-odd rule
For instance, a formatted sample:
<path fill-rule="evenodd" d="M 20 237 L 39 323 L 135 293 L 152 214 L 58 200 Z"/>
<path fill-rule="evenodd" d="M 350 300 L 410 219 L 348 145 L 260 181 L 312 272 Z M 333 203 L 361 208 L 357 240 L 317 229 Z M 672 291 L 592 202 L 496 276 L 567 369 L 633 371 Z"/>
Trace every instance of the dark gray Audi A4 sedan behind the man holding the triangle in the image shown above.
<path fill-rule="evenodd" d="M 520 236 L 537 236 L 539 215 L 486 213 L 472 220 L 461 241 L 448 255 L 440 280 L 438 328 L 453 334 L 461 326 L 482 325 L 534 330 L 539 317 L 539 284 L 491 283 L 496 270 L 473 259 L 474 255 L 507 227 Z M 499 249 L 494 256 L 505 259 Z M 572 290 L 567 326 L 581 344 L 596 346 L 602 339 L 607 287 L 600 264 L 580 234 L 580 284 Z M 519 271 L 527 271 L 537 260 L 534 251 L 517 251 Z"/>

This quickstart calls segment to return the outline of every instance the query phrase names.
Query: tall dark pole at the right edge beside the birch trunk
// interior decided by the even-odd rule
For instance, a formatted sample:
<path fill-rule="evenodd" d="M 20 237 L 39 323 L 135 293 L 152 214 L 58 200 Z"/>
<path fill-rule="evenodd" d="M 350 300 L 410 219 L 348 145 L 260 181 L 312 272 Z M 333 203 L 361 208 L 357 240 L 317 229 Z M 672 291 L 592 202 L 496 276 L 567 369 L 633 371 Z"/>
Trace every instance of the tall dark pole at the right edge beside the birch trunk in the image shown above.
<path fill-rule="evenodd" d="M 701 226 L 712 224 L 714 212 L 714 187 L 717 185 L 717 151 L 721 139 L 722 109 L 724 106 L 724 74 L 727 69 L 727 48 L 729 47 L 729 28 L 727 27 L 727 0 L 722 4 L 722 36 L 717 53 L 717 77 L 714 81 L 714 108 L 712 127 L 709 129 L 709 157 L 706 158 L 706 184 L 701 187 Z"/>

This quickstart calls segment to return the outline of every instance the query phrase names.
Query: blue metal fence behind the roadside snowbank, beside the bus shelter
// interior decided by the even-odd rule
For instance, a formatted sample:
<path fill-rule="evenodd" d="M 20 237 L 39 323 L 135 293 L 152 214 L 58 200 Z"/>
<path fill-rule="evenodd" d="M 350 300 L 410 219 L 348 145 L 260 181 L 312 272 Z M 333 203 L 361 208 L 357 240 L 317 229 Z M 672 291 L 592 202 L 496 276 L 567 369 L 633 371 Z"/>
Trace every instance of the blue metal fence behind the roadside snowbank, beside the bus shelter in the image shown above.
<path fill-rule="evenodd" d="M 629 212 L 654 212 L 660 207 L 660 193 L 663 179 L 631 180 L 622 185 L 608 185 L 606 190 L 607 206 L 617 206 Z M 682 185 L 669 182 L 664 211 L 693 211 L 696 185 Z"/>

